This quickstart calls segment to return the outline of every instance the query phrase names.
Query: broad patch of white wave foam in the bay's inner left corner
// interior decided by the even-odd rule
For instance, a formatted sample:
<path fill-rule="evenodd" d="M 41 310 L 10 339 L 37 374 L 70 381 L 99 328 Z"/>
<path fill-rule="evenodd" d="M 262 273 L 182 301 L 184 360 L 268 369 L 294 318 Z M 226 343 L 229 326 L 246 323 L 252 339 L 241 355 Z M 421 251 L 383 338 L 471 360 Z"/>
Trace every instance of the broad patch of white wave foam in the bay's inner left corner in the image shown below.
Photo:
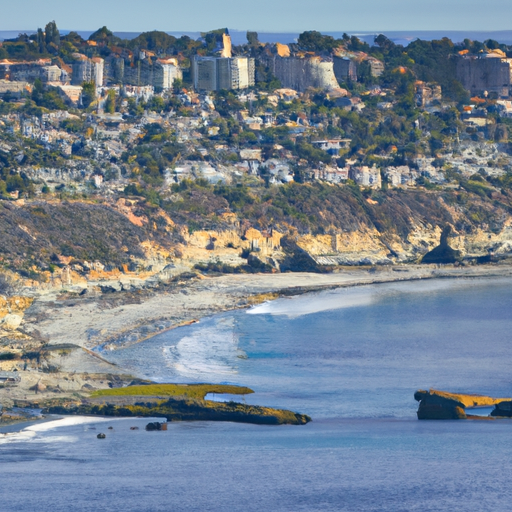
<path fill-rule="evenodd" d="M 210 319 L 175 345 L 163 347 L 169 367 L 182 377 L 207 379 L 238 372 L 238 335 L 232 317 Z"/>

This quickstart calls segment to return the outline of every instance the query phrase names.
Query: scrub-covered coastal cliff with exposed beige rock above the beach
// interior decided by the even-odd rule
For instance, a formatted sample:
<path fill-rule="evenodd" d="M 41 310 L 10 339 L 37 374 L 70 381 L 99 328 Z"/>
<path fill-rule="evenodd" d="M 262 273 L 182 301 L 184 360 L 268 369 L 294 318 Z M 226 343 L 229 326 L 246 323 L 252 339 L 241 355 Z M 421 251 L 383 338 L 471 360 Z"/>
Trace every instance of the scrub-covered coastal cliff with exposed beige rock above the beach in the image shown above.
<path fill-rule="evenodd" d="M 392 191 L 371 199 L 350 187 L 293 187 L 293 208 L 281 197 L 254 205 L 259 199 L 249 195 L 252 209 L 235 208 L 206 190 L 201 201 L 212 211 L 199 215 L 184 193 L 175 198 L 181 210 L 174 213 L 144 198 L 0 201 L 0 261 L 25 285 L 45 290 L 98 279 L 165 280 L 194 267 L 232 273 L 418 263 L 443 229 L 450 230 L 454 251 L 446 262 L 512 254 L 508 196 L 463 202 L 449 191 Z"/>

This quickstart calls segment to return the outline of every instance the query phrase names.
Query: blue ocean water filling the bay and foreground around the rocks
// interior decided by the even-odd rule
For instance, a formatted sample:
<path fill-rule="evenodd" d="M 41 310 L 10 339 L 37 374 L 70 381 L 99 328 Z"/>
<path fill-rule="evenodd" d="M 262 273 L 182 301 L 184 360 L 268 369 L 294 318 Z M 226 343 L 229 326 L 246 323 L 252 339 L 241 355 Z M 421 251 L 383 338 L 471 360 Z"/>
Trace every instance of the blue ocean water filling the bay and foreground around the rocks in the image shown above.
<path fill-rule="evenodd" d="M 104 352 L 156 381 L 247 385 L 248 403 L 313 421 L 167 432 L 145 432 L 147 419 L 34 425 L 0 436 L 0 510 L 508 511 L 512 421 L 418 421 L 413 394 L 512 396 L 511 285 L 309 294 Z"/>

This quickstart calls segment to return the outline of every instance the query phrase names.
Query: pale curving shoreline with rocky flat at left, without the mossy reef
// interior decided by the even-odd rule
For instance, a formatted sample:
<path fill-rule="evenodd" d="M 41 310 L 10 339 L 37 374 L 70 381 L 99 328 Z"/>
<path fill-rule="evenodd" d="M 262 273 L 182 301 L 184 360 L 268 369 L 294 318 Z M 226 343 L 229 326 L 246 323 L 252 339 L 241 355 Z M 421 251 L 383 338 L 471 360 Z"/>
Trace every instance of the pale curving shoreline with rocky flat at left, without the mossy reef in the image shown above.
<path fill-rule="evenodd" d="M 511 277 L 512 265 L 442 268 L 404 265 L 350 268 L 329 274 L 203 276 L 171 288 L 155 290 L 138 301 L 134 301 L 133 294 L 129 292 L 87 299 L 43 297 L 34 301 L 27 310 L 23 330 L 27 333 L 32 330 L 44 340 L 46 363 L 58 371 L 41 373 L 36 367 L 25 371 L 19 368 L 21 382 L 0 389 L 0 404 L 8 409 L 12 404 L 72 400 L 79 395 L 87 396 L 89 389 L 126 386 L 137 376 L 128 375 L 123 368 L 110 363 L 109 350 L 140 343 L 205 317 L 245 309 L 280 297 L 426 279 Z M 73 348 L 60 348 L 64 346 Z M 45 389 L 40 389 L 40 383 Z"/>

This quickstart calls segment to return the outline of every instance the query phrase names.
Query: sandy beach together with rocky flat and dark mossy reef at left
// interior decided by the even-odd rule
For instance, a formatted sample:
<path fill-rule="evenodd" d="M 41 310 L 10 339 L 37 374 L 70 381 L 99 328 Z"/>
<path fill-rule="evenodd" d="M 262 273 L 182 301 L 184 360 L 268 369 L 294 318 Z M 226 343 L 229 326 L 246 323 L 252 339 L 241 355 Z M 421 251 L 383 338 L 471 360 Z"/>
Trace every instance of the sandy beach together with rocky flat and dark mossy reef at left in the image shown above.
<path fill-rule="evenodd" d="M 505 264 L 404 265 L 342 268 L 328 274 L 206 277 L 195 273 L 137 291 L 100 294 L 54 290 L 20 303 L 16 312 L 20 318 L 18 325 L 2 331 L 2 353 L 8 356 L 0 361 L 0 370 L 6 376 L 0 388 L 0 403 L 8 421 L 26 419 L 24 416 L 16 418 L 10 411 L 13 406 L 42 406 L 51 412 L 66 410 L 75 414 L 107 414 L 110 410 L 117 415 L 121 409 L 127 409 L 127 405 L 135 407 L 131 398 L 125 397 L 119 402 L 119 395 L 115 397 L 118 402 L 114 403 L 118 390 L 148 383 L 110 363 L 109 351 L 141 342 L 165 330 L 278 297 L 327 289 L 408 280 L 506 276 L 512 276 L 512 267 Z M 106 395 L 100 400 L 99 395 L 105 392 L 112 403 L 105 401 Z M 161 408 L 158 411 L 161 414 L 156 415 L 172 420 L 209 418 L 270 424 L 308 421 L 306 416 L 289 411 L 276 412 L 244 404 L 213 404 L 186 394 L 167 397 L 154 392 L 151 396 L 151 400 L 144 398 L 140 402 L 152 402 L 152 405 L 140 406 L 146 410 L 138 410 L 137 414 L 155 416 L 155 408 Z M 55 407 L 61 409 L 52 409 Z M 131 411 L 130 415 L 133 413 Z"/>

